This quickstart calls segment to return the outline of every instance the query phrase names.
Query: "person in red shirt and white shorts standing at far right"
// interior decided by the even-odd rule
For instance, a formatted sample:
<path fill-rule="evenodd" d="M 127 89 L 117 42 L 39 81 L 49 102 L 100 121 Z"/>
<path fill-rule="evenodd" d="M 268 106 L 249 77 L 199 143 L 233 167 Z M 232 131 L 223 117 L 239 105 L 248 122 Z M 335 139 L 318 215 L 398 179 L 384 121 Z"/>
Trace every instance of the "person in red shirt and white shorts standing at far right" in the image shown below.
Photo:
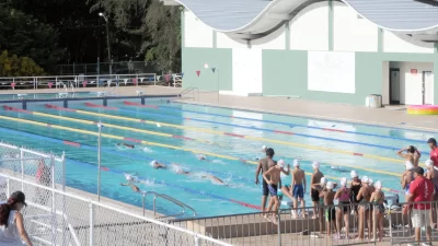
<path fill-rule="evenodd" d="M 422 202 L 408 206 L 408 210 L 412 211 L 412 226 L 415 229 L 415 241 L 416 244 L 410 244 L 412 246 L 419 245 L 422 226 L 426 227 L 426 238 L 428 243 L 423 245 L 431 245 L 430 243 L 430 201 L 434 198 L 434 184 L 425 178 L 423 167 L 417 167 L 414 171 L 414 181 L 411 183 L 410 194 L 407 195 L 407 202 Z"/>

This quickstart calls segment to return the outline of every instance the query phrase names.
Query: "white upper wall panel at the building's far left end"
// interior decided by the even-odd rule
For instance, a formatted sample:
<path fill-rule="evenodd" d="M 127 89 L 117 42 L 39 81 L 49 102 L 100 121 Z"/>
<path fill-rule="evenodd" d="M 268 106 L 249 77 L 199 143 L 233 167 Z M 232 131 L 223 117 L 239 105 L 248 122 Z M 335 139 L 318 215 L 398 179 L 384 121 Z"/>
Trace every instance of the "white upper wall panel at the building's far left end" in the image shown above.
<path fill-rule="evenodd" d="M 212 28 L 199 21 L 191 11 L 184 11 L 185 47 L 212 48 Z"/>

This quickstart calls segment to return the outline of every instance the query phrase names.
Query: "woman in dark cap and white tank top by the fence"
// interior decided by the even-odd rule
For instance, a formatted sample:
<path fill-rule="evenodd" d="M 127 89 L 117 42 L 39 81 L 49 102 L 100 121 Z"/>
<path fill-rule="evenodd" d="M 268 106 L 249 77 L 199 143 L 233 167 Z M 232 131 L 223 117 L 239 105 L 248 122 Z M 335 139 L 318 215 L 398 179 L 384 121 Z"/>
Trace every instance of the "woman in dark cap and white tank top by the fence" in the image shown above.
<path fill-rule="evenodd" d="M 22 191 L 13 192 L 8 202 L 0 206 L 0 245 L 32 246 L 31 238 L 24 229 L 23 215 L 20 213 L 24 206 L 27 204 Z"/>

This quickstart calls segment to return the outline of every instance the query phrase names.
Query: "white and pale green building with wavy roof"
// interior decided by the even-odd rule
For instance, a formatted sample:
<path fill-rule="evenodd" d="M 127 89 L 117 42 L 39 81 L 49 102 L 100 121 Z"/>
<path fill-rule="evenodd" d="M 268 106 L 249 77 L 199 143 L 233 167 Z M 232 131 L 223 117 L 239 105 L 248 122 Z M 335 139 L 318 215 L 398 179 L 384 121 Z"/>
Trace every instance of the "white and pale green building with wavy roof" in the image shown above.
<path fill-rule="evenodd" d="M 184 87 L 438 104 L 436 0 L 162 1 L 182 9 Z"/>

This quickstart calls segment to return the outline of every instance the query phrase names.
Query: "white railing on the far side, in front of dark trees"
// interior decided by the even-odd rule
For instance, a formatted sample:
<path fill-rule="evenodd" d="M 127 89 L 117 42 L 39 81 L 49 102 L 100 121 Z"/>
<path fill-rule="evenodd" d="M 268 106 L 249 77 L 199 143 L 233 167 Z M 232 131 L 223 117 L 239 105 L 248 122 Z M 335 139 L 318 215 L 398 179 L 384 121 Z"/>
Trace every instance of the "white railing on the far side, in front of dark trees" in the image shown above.
<path fill-rule="evenodd" d="M 119 85 L 157 85 L 157 73 L 99 74 L 99 75 L 51 75 L 51 77 L 3 77 L 0 90 L 37 90 L 104 87 Z"/>

